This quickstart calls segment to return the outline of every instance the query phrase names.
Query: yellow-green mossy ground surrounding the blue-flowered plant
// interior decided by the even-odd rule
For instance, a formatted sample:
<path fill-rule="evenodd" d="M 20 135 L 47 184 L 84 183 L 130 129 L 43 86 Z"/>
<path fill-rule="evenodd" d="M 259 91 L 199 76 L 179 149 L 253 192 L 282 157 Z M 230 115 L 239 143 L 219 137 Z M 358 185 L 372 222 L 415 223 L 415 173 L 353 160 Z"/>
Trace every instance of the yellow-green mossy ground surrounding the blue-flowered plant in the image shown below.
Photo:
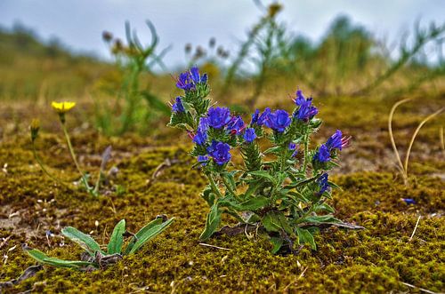
<path fill-rule="evenodd" d="M 409 142 L 425 115 L 443 104 L 432 98 L 401 107 L 394 118 L 395 137 L 401 149 Z M 424 100 L 425 101 L 425 100 Z M 287 103 L 287 102 L 286 102 Z M 272 104 L 284 106 L 284 100 Z M 336 127 L 353 137 L 342 155 L 342 168 L 335 181 L 343 190 L 334 193 L 336 216 L 365 226 L 360 231 L 331 227 L 317 234 L 318 250 L 304 247 L 297 256 L 273 256 L 262 235 L 252 240 L 240 234 L 218 236 L 198 244 L 206 203 L 199 192 L 206 181 L 188 155 L 189 139 L 159 127 L 155 135 L 103 138 L 82 125 L 85 114 L 69 114 L 69 129 L 79 160 L 96 171 L 101 151 L 113 147 L 109 167 L 118 171 L 111 188 L 98 198 L 81 190 L 55 185 L 44 177 L 33 160 L 27 125 L 32 115 L 47 117 L 37 147 L 52 171 L 63 179 L 76 180 L 77 173 L 59 136 L 56 115 L 40 113 L 22 103 L 2 106 L 0 130 L 0 281 L 18 277 L 35 261 L 20 244 L 43 250 L 54 257 L 77 259 L 81 249 L 63 240 L 61 228 L 75 226 L 108 242 L 112 227 L 126 219 L 132 232 L 158 214 L 176 218 L 173 226 L 149 242 L 136 255 L 91 273 L 44 266 L 36 276 L 6 292 L 417 292 L 404 283 L 441 292 L 445 290 L 444 152 L 439 127 L 443 116 L 425 125 L 413 148 L 409 185 L 395 170 L 395 158 L 387 137 L 386 118 L 393 100 L 324 99 L 319 102 L 326 126 L 317 135 L 326 139 Z M 270 104 L 260 101 L 260 104 Z M 45 116 L 44 116 L 45 115 Z M 165 122 L 160 122 L 159 125 Z M 152 174 L 166 159 L 170 164 L 157 177 Z M 4 164 L 7 163 L 7 166 Z M 401 198 L 413 198 L 407 205 Z M 410 239 L 418 216 L 416 234 Z M 99 226 L 96 226 L 96 221 Z M 225 224 L 234 224 L 224 219 Z M 46 238 L 50 230 L 53 236 Z"/>

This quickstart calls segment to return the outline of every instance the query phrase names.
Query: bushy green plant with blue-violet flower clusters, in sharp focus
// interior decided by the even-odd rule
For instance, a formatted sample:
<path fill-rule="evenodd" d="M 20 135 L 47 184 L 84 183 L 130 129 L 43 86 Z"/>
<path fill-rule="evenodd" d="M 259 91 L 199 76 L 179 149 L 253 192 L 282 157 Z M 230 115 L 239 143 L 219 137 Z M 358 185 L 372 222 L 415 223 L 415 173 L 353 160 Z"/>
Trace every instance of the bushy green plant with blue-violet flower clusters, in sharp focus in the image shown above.
<path fill-rule="evenodd" d="M 256 109 L 249 123 L 226 107 L 210 107 L 206 75 L 198 68 L 182 73 L 176 86 L 169 125 L 188 131 L 195 143 L 191 155 L 209 184 L 201 196 L 210 206 L 202 241 L 218 229 L 222 214 L 243 225 L 263 228 L 273 252 L 282 246 L 294 250 L 294 241 L 316 249 L 313 234 L 319 226 L 357 228 L 336 219 L 328 205 L 332 188 L 328 171 L 337 166 L 339 152 L 349 138 L 336 131 L 324 144 L 310 148 L 321 120 L 312 98 L 296 91 L 295 110 Z M 259 141 L 271 147 L 261 150 Z M 243 164 L 232 162 L 240 153 Z"/>

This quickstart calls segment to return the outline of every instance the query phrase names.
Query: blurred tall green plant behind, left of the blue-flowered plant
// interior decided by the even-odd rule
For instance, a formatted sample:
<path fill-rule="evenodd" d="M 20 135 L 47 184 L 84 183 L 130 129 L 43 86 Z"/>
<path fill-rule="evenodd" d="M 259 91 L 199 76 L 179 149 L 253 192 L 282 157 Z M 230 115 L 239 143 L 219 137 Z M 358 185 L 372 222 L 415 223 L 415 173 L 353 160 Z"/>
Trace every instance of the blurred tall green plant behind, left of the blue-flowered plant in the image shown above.
<path fill-rule="evenodd" d="M 118 77 L 115 83 L 102 83 L 101 88 L 109 91 L 109 99 L 94 99 L 96 104 L 96 123 L 108 135 L 122 135 L 126 131 L 146 131 L 150 121 L 158 117 L 158 112 L 170 114 L 170 108 L 150 89 L 150 83 L 141 83 L 143 78 L 150 78 L 152 68 L 158 64 L 166 69 L 162 57 L 169 48 L 159 54 L 156 52 L 159 37 L 156 28 L 147 21 L 150 28 L 151 42 L 144 46 L 136 31 L 125 23 L 126 43 L 113 40 L 109 32 L 103 33 L 104 41 L 116 59 Z M 145 74 L 145 75 L 144 75 Z"/>

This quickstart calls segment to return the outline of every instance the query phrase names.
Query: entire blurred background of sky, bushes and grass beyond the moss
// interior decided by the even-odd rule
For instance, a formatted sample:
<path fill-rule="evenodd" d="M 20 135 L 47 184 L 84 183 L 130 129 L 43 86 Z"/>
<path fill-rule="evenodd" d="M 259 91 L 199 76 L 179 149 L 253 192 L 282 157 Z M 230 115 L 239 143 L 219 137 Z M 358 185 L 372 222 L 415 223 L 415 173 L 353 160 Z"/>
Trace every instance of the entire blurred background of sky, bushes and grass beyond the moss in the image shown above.
<path fill-rule="evenodd" d="M 444 11 L 441 0 L 4 0 L 0 99 L 32 109 L 71 99 L 105 135 L 146 134 L 166 124 L 175 76 L 197 65 L 214 99 L 241 114 L 287 107 L 297 87 L 438 103 Z"/>

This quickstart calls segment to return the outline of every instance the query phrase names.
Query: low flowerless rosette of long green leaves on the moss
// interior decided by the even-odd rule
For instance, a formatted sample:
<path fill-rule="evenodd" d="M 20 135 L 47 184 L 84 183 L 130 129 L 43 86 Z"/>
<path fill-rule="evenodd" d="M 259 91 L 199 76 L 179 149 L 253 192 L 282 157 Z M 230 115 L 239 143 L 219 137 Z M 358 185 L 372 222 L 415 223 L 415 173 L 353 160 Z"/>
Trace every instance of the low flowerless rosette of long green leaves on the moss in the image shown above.
<path fill-rule="evenodd" d="M 85 250 L 85 254 L 82 255 L 82 260 L 78 261 L 51 258 L 44 254 L 44 252 L 32 249 L 26 245 L 23 246 L 23 249 L 31 258 L 36 259 L 38 263 L 43 265 L 75 268 L 78 270 L 104 268 L 116 263 L 125 255 L 134 254 L 137 250 L 140 250 L 143 244 L 149 242 L 158 234 L 161 234 L 173 221 L 174 218 L 167 219 L 166 216 L 158 216 L 156 219 L 150 221 L 149 224 L 142 227 L 136 234 L 131 234 L 125 230 L 125 219 L 122 219 L 114 227 L 106 249 L 95 242 L 89 234 L 84 234 L 72 226 L 67 226 L 61 230 L 61 234 L 71 241 L 77 242 L 77 244 Z M 131 236 L 131 239 L 125 249 L 123 249 L 125 235 Z"/>

